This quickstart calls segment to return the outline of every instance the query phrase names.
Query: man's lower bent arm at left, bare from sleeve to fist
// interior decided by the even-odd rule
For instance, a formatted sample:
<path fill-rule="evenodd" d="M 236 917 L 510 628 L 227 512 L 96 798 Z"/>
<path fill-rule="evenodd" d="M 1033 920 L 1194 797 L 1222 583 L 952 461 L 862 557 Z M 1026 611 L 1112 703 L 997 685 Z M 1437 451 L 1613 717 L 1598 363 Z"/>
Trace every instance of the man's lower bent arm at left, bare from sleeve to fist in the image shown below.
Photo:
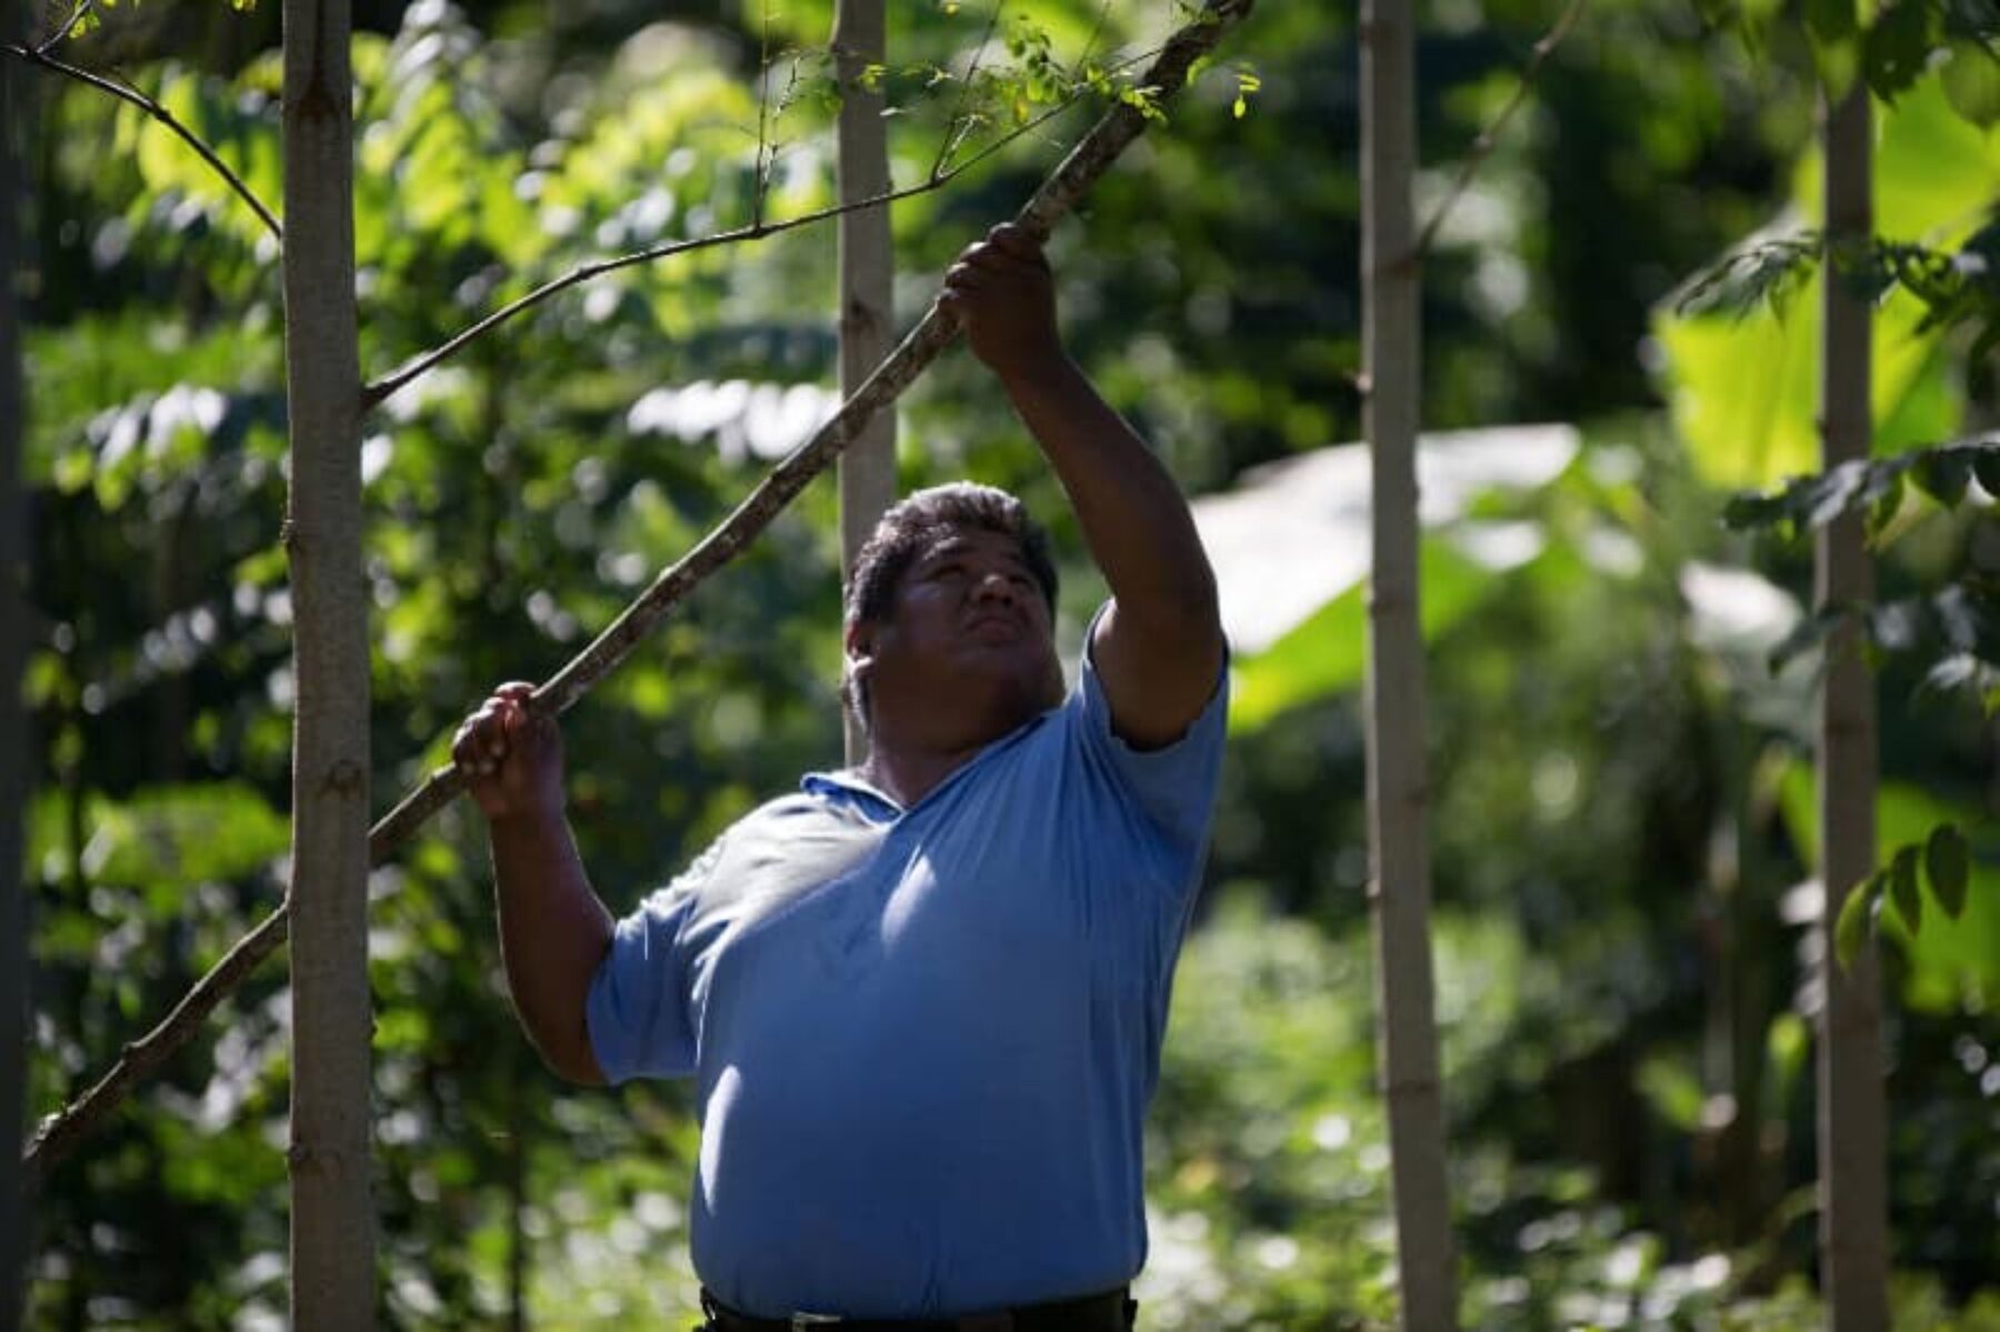
<path fill-rule="evenodd" d="M 452 762 L 486 814 L 500 956 L 520 1024 L 552 1070 L 602 1084 L 584 1004 L 612 944 L 612 918 L 564 814 L 562 734 L 554 720 L 528 716 L 532 692 L 532 684 L 494 690 L 458 728 Z"/>

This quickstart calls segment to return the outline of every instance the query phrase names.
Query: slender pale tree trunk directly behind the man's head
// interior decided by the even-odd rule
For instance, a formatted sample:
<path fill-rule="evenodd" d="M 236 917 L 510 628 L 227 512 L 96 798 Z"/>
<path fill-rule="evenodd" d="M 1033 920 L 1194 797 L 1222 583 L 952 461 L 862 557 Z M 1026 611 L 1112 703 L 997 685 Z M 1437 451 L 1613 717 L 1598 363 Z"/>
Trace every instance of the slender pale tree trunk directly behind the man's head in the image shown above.
<path fill-rule="evenodd" d="M 840 78 L 840 202 L 888 192 L 888 120 L 884 98 L 862 86 L 870 64 L 886 50 L 882 0 L 836 0 L 834 70 Z M 896 330 L 892 310 L 894 258 L 888 206 L 840 214 L 840 396 L 852 398 L 882 358 Z M 896 412 L 876 412 L 840 454 L 840 574 L 896 500 Z M 868 754 L 868 734 L 846 718 L 848 762 Z"/>

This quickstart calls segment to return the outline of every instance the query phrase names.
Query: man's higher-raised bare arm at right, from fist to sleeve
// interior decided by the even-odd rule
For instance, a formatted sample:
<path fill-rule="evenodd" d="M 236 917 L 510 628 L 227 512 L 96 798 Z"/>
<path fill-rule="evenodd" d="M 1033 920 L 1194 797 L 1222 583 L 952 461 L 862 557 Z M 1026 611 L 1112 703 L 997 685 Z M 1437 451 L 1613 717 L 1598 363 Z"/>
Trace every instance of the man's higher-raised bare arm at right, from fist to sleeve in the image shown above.
<path fill-rule="evenodd" d="M 1138 748 L 1172 744 L 1222 670 L 1216 578 L 1180 486 L 1064 352 L 1040 244 L 996 226 L 944 282 L 944 308 L 1056 468 L 1112 588 L 1092 642 L 1112 728 Z"/>

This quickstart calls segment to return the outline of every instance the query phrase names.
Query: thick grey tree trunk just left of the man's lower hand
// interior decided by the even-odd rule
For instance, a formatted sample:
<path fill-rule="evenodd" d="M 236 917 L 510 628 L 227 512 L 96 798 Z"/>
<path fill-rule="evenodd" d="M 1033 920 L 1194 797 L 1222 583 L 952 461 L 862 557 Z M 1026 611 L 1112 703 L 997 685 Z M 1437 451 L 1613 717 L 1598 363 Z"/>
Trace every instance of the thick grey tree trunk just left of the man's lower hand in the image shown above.
<path fill-rule="evenodd" d="M 368 600 L 348 0 L 284 0 L 292 750 L 292 1326 L 374 1326 Z"/>

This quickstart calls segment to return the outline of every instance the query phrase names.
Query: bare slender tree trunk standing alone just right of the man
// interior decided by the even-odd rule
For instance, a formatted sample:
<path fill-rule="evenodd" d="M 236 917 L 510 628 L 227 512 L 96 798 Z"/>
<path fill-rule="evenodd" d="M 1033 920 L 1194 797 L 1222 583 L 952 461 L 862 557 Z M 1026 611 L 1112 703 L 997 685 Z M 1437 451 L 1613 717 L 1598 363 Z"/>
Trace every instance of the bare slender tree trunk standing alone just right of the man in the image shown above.
<path fill-rule="evenodd" d="M 1430 978 L 1424 844 L 1424 644 L 1418 630 L 1418 256 L 1410 178 L 1414 60 L 1408 0 L 1362 6 L 1364 432 L 1374 460 L 1368 594 L 1368 824 L 1380 1078 L 1388 1102 L 1402 1326 L 1452 1328 L 1458 1284 L 1444 1180 L 1444 1108 Z"/>

